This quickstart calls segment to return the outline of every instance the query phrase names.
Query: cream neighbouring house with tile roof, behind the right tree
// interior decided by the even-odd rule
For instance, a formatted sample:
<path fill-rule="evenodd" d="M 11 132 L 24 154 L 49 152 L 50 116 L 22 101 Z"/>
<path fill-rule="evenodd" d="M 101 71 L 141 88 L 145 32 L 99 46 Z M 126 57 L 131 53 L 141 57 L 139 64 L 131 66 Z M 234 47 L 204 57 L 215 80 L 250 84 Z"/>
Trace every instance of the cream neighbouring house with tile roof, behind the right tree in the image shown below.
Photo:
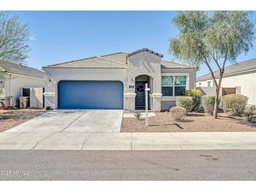
<path fill-rule="evenodd" d="M 214 72 L 219 77 L 219 71 Z M 237 93 L 249 98 L 248 104 L 256 105 L 256 59 L 232 64 L 225 68 L 222 78 L 221 95 Z M 196 78 L 196 87 L 215 94 L 215 85 L 210 74 Z"/>

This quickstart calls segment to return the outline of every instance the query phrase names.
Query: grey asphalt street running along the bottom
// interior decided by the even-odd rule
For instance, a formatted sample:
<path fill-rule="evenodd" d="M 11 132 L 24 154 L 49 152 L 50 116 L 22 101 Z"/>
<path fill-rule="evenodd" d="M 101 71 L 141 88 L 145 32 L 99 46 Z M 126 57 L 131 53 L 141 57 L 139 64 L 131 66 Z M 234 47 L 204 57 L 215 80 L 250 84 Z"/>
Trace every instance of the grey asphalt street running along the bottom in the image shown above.
<path fill-rule="evenodd" d="M 256 150 L 0 151 L 0 180 L 256 180 Z"/>

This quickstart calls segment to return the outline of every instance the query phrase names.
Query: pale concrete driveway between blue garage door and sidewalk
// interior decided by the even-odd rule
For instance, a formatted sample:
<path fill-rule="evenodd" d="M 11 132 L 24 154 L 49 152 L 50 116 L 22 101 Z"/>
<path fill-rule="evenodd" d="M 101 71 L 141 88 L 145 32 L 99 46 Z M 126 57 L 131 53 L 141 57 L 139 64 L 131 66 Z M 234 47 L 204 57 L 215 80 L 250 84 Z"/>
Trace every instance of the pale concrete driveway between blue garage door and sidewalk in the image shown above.
<path fill-rule="evenodd" d="M 6 132 L 120 132 L 123 110 L 55 110 Z"/>

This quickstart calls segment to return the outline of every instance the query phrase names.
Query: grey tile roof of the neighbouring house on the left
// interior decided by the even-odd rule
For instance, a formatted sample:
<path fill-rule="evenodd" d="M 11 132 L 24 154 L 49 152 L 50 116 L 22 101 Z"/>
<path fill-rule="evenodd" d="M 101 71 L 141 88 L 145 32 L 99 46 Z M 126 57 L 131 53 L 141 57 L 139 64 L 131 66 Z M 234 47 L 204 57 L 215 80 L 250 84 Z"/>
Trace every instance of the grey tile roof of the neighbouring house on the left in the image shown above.
<path fill-rule="evenodd" d="M 21 74 L 25 76 L 33 76 L 37 78 L 44 78 L 45 76 L 44 71 L 5 61 L 0 61 L 0 71 L 6 71 L 9 73 Z"/>

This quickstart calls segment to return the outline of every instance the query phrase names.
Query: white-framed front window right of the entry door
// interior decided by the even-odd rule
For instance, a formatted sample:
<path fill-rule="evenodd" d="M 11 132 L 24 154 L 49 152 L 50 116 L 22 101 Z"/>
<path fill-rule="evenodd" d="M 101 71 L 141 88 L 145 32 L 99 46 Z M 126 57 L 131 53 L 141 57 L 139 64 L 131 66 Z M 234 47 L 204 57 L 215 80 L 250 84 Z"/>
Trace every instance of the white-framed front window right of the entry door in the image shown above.
<path fill-rule="evenodd" d="M 186 90 L 186 76 L 162 76 L 162 94 L 163 96 L 184 95 Z"/>

